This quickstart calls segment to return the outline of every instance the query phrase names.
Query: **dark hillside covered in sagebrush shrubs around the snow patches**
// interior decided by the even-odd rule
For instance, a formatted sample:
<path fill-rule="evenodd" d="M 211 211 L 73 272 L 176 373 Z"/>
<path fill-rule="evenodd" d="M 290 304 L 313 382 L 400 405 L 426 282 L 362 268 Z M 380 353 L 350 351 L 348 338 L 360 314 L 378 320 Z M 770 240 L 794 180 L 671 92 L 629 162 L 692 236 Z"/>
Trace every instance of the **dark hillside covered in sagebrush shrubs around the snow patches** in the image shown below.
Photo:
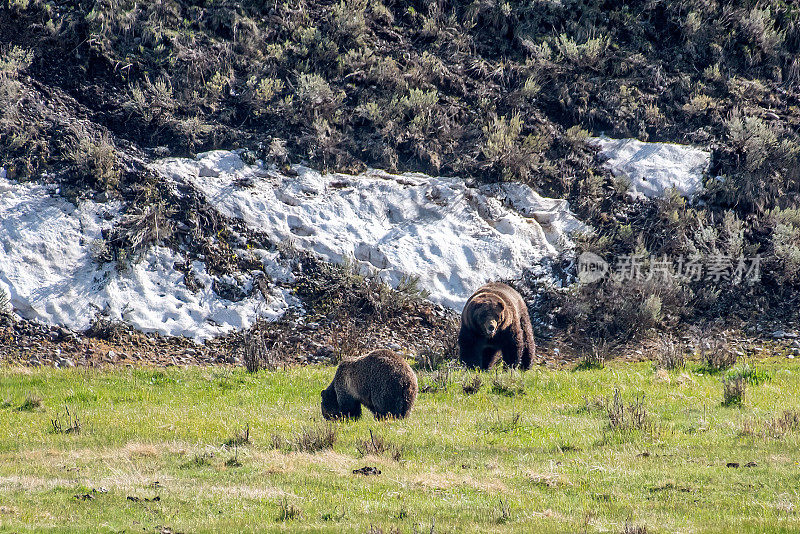
<path fill-rule="evenodd" d="M 580 246 L 607 258 L 763 257 L 751 286 L 521 287 L 569 335 L 627 339 L 765 311 L 797 320 L 791 3 L 12 1 L 0 47 L 6 174 L 188 224 L 198 250 L 223 247 L 215 216 L 185 220 L 146 163 L 242 147 L 278 166 L 523 182 L 568 199 L 597 229 Z M 706 148 L 707 189 L 694 203 L 632 200 L 589 133 Z M 125 250 L 174 234 L 148 235 L 110 241 Z"/>

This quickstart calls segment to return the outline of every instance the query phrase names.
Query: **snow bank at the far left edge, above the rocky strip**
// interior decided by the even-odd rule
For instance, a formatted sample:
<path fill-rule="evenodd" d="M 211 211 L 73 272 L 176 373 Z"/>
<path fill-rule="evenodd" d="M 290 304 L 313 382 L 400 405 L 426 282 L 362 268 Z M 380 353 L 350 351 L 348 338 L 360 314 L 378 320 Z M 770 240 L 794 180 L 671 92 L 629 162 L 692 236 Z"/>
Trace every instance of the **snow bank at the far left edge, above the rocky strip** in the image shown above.
<path fill-rule="evenodd" d="M 17 313 L 74 330 L 103 313 L 146 332 L 200 341 L 247 327 L 259 315 L 278 317 L 288 307 L 279 290 L 268 303 L 258 292 L 239 302 L 219 297 L 202 262 L 192 264 L 201 286 L 192 292 L 173 267 L 184 258 L 162 247 L 123 272 L 98 266 L 93 249 L 120 208 L 92 201 L 75 207 L 50 187 L 0 178 L 0 288 Z"/>

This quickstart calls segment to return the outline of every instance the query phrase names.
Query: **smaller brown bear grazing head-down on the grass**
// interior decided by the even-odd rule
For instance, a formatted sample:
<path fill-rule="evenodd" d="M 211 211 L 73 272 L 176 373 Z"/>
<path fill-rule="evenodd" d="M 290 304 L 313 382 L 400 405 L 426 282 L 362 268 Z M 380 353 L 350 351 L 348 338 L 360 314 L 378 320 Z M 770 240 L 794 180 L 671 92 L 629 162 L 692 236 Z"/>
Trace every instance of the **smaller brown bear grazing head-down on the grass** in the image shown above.
<path fill-rule="evenodd" d="M 361 417 L 361 405 L 376 418 L 406 417 L 417 398 L 417 375 L 399 354 L 386 349 L 344 360 L 322 391 L 325 419 Z"/>

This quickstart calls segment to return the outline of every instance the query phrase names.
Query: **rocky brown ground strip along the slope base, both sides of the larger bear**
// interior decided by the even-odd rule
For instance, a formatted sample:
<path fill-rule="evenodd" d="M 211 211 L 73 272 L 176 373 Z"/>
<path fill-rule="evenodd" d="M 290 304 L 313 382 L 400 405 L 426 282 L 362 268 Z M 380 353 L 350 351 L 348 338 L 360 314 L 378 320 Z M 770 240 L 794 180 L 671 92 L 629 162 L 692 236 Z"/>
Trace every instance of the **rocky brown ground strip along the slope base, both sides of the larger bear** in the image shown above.
<path fill-rule="evenodd" d="M 49 367 L 170 367 L 246 365 L 248 345 L 263 342 L 262 367 L 333 364 L 339 358 L 388 347 L 432 368 L 457 357 L 457 315 L 430 305 L 418 314 L 378 323 L 339 324 L 324 318 L 292 317 L 216 338 L 203 344 L 181 337 L 146 334 L 119 323 L 94 325 L 86 332 L 0 315 L 0 363 Z M 742 359 L 800 358 L 797 330 L 773 331 L 768 325 L 741 330 L 687 332 L 680 338 L 654 337 L 641 343 L 580 350 L 563 338 L 540 341 L 540 365 L 572 368 L 576 362 L 621 359 L 658 363 L 675 346 L 687 359 L 720 351 Z"/>

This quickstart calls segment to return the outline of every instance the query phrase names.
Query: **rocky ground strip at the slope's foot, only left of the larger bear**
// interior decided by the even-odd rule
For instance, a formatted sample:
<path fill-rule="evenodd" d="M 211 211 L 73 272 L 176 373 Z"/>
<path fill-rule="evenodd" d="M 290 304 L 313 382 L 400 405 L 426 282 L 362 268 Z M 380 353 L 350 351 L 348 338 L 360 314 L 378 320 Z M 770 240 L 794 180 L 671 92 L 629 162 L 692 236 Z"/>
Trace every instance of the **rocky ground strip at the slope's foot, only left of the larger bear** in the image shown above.
<path fill-rule="evenodd" d="M 454 312 L 430 305 L 416 315 L 380 324 L 288 317 L 198 344 L 121 323 L 96 323 L 85 332 L 73 332 L 7 314 L 0 315 L 0 362 L 53 367 L 244 365 L 248 344 L 259 343 L 265 349 L 264 366 L 329 363 L 378 347 L 438 361 L 448 350 L 452 353 L 447 345 L 455 342 L 456 324 Z"/>

